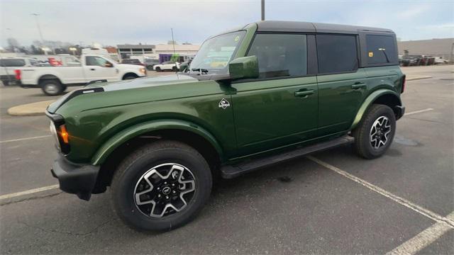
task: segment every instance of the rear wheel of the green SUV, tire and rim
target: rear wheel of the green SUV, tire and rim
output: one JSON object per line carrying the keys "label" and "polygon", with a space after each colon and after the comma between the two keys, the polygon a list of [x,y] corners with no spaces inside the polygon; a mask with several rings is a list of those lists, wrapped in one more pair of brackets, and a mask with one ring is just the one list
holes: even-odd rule
{"label": "rear wheel of the green SUV, tire and rim", "polygon": [[365,159],[381,157],[387,151],[396,132],[396,117],[389,106],[374,104],[360,125],[353,130],[355,149]]}

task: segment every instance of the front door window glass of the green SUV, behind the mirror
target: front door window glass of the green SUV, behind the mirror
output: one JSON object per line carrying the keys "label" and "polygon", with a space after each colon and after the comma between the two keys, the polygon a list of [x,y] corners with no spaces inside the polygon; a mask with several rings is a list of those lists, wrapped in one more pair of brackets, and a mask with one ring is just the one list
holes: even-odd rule
{"label": "front door window glass of the green SUV, behind the mirror", "polygon": [[257,56],[259,78],[307,74],[306,35],[257,34],[248,56]]}

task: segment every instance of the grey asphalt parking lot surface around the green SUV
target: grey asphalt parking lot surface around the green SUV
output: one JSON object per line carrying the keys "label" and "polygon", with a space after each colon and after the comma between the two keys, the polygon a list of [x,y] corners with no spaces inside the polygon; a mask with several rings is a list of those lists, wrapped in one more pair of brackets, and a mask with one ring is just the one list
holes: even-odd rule
{"label": "grey asphalt parking lot surface around the green SUV", "polygon": [[454,254],[453,66],[403,70],[432,78],[407,81],[384,157],[338,147],[221,181],[196,220],[159,234],[123,225],[109,190],[86,202],[55,188],[48,119],[6,113],[50,98],[3,86],[0,253]]}

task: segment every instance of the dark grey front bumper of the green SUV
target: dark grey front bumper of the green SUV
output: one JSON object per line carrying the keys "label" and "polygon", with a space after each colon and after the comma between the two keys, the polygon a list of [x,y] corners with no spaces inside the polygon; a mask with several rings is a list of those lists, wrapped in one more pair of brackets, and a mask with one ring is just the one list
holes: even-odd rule
{"label": "dark grey front bumper of the green SUV", "polygon": [[99,166],[74,164],[59,154],[50,171],[52,176],[58,179],[62,191],[76,194],[80,199],[89,200],[99,173]]}

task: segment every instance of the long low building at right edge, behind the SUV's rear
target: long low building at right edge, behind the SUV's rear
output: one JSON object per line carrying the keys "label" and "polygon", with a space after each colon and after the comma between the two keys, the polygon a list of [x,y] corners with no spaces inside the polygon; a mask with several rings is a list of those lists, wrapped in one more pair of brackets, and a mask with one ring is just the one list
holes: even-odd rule
{"label": "long low building at right edge, behind the SUV's rear", "polygon": [[454,38],[398,41],[399,55],[443,57],[453,62]]}

